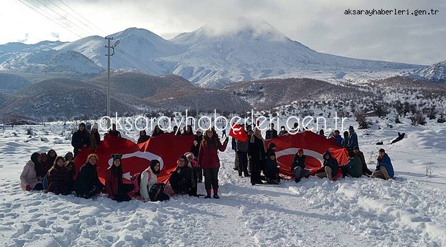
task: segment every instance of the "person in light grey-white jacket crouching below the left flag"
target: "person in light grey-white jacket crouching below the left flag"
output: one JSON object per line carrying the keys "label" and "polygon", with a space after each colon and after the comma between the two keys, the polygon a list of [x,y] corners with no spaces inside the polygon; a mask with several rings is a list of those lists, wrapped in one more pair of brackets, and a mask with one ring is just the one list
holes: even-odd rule
{"label": "person in light grey-white jacket crouching below the left flag", "polygon": [[139,193],[145,202],[152,201],[164,201],[169,200],[169,196],[164,193],[165,185],[163,183],[156,183],[158,174],[161,172],[160,163],[158,160],[150,161],[150,167],[145,169],[141,174],[135,174],[134,178],[132,178],[132,182],[139,183],[134,186],[139,187],[139,191],[135,191]]}

